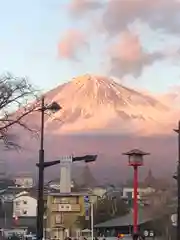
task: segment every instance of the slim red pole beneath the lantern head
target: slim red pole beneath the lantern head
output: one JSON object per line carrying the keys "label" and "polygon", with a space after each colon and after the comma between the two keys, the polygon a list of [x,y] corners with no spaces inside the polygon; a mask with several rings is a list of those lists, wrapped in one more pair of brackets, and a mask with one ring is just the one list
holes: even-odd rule
{"label": "slim red pole beneath the lantern head", "polygon": [[138,232],[138,167],[134,166],[134,226],[133,233]]}

